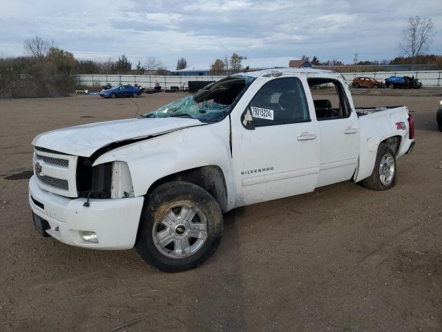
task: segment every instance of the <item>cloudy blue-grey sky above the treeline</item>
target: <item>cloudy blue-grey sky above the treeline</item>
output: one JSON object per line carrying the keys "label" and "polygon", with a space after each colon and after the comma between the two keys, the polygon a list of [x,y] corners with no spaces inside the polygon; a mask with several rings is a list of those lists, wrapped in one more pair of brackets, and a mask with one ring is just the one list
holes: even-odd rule
{"label": "cloudy blue-grey sky above the treeline", "polygon": [[54,39],[76,57],[132,62],[179,57],[209,64],[233,51],[249,58],[391,59],[398,55],[407,18],[430,17],[442,54],[441,0],[77,0],[2,3],[0,56],[23,55],[23,40]]}

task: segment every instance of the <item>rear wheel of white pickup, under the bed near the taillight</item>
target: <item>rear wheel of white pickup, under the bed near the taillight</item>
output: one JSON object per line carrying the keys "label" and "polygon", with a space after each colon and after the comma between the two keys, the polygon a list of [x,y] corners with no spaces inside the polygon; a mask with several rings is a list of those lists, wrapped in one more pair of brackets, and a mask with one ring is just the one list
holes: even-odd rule
{"label": "rear wheel of white pickup, under the bed near the taillight", "polygon": [[372,175],[363,179],[364,187],[372,190],[387,190],[396,185],[396,157],[386,143],[381,143],[376,154]]}

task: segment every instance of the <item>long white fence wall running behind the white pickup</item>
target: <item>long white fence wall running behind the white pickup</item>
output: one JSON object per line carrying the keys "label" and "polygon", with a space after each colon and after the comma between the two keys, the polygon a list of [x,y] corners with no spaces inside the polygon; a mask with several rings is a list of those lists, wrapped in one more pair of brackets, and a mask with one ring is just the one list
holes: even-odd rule
{"label": "long white fence wall running behind the white pickup", "polygon": [[[171,86],[188,87],[189,81],[218,81],[224,76],[152,76],[152,75],[76,75],[77,82],[82,86],[103,86],[107,83],[141,84],[146,88],[153,88],[160,83],[163,89]],[[390,76],[414,76],[423,86],[442,86],[442,71],[378,71],[372,73],[343,73],[345,80],[351,84],[354,77],[373,77],[376,80],[385,80]]]}

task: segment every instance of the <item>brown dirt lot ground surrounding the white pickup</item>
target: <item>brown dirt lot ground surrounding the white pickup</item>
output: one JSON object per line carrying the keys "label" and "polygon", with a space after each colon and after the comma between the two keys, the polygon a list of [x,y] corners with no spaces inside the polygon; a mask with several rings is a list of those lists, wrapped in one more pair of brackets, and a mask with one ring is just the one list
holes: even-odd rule
{"label": "brown dirt lot ground surrounding the white pickup", "polygon": [[[136,102],[148,111],[180,96]],[[42,238],[28,208],[32,138],[131,118],[131,100],[0,100],[0,331],[442,331],[438,102],[356,95],[356,106],[406,104],[416,118],[394,189],[346,182],[234,210],[204,266],[166,274],[135,250]]]}

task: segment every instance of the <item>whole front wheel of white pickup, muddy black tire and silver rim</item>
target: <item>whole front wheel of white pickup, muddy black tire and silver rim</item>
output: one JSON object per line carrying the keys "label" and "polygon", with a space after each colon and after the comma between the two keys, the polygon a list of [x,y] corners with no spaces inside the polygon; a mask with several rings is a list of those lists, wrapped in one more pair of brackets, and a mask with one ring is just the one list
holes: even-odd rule
{"label": "whole front wheel of white pickup, muddy black tire and silver rim", "polygon": [[135,246],[146,263],[166,272],[190,270],[218,248],[222,212],[202,187],[182,181],[164,183],[147,200]]}

